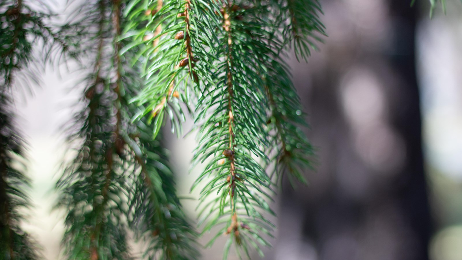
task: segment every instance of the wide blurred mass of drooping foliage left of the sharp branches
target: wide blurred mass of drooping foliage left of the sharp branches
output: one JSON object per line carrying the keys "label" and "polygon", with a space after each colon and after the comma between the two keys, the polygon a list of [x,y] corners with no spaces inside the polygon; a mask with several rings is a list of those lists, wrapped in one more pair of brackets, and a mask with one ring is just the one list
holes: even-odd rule
{"label": "wide blurred mass of drooping foliage left of the sharp branches", "polygon": [[84,109],[73,120],[69,141],[77,155],[57,187],[66,217],[69,259],[130,259],[127,229],[146,241],[144,258],[195,259],[196,233],[176,197],[173,174],[152,126],[131,118],[129,104],[141,91],[136,50],[124,50],[125,2],[84,1],[61,35],[69,50],[92,63],[84,79]]}

